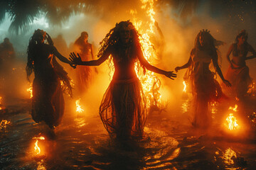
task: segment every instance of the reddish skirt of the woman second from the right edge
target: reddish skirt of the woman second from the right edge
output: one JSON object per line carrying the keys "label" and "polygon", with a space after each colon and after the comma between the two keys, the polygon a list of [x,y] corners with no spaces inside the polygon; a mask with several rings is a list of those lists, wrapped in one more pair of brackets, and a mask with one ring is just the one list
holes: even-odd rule
{"label": "reddish skirt of the woman second from the right edge", "polygon": [[212,123],[209,105],[225,96],[213,73],[192,76],[193,110],[192,125],[207,128]]}

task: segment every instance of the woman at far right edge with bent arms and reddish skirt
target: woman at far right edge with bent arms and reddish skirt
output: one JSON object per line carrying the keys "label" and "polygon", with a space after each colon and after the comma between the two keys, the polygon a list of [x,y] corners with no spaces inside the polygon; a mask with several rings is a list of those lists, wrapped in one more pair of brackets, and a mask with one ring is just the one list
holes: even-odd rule
{"label": "woman at far right edge with bent arms and reddish skirt", "polygon": [[[247,42],[248,35],[245,30],[242,30],[235,38],[235,43],[230,45],[227,53],[227,59],[230,67],[225,75],[226,79],[231,82],[232,88],[227,89],[228,94],[234,97],[242,97],[247,94],[252,79],[249,75],[249,68],[245,64],[245,60],[256,57],[256,52],[253,47]],[[252,52],[252,56],[247,57],[247,53]],[[233,57],[230,60],[230,54]]]}

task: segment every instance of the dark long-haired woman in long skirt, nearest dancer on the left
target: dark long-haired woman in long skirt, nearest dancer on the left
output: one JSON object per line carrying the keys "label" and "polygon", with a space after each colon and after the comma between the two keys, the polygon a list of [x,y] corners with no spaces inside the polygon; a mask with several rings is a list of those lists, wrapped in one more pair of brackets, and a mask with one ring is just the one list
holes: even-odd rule
{"label": "dark long-haired woman in long skirt, nearest dancer on the left", "polygon": [[[48,44],[44,43],[45,39]],[[70,78],[63,67],[56,62],[55,57],[61,62],[72,65],[72,62],[60,55],[53,46],[53,41],[48,33],[35,30],[28,44],[28,63],[26,66],[27,77],[32,72],[33,80],[32,118],[36,123],[44,121],[49,128],[59,125],[64,113],[63,90],[72,95]],[[62,86],[60,85],[62,81]]]}

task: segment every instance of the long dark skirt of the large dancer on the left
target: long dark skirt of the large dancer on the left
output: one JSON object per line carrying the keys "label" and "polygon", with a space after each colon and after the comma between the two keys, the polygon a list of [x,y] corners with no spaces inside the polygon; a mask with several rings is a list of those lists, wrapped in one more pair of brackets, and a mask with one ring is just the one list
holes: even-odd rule
{"label": "long dark skirt of the large dancer on the left", "polygon": [[58,79],[34,79],[32,118],[38,123],[44,121],[50,128],[60,124],[65,102]]}

